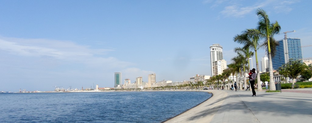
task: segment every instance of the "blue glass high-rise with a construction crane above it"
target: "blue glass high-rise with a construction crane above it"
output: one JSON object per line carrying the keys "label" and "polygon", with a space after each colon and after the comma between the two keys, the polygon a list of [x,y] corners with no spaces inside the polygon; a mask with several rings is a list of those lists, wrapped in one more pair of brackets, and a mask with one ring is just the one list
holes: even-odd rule
{"label": "blue glass high-rise with a construction crane above it", "polygon": [[278,41],[275,56],[272,57],[272,66],[274,70],[287,63],[289,60],[302,60],[301,40],[300,38],[287,38]]}

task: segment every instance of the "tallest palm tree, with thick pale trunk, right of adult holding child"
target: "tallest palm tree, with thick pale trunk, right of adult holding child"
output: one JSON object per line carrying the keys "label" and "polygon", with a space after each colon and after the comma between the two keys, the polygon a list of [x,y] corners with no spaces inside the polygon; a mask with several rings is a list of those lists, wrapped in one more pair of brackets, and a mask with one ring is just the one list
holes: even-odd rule
{"label": "tallest palm tree, with thick pale trunk, right of adult holding child", "polygon": [[[257,29],[265,36],[267,40],[267,49],[269,56],[269,71],[270,71],[270,91],[275,91],[275,83],[273,80],[273,66],[272,66],[272,55],[271,55],[271,46],[270,39],[274,39],[274,34],[278,34],[280,32],[280,25],[277,21],[275,23],[270,23],[269,16],[266,14],[266,11],[258,8],[256,10],[256,14],[259,17],[258,27]],[[259,88],[258,88],[259,89]]]}

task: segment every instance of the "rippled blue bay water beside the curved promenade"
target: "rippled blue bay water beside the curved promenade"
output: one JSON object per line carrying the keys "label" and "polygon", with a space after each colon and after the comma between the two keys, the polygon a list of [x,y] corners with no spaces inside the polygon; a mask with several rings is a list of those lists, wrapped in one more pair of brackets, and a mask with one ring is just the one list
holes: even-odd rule
{"label": "rippled blue bay water beside the curved promenade", "polygon": [[159,123],[210,97],[194,91],[0,93],[0,122]]}

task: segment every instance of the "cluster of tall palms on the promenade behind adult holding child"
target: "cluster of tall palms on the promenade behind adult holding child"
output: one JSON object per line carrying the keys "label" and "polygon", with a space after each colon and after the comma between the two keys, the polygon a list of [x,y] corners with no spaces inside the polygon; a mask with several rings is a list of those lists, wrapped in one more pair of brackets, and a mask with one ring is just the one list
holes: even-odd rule
{"label": "cluster of tall palms on the promenade behind adult holding child", "polygon": [[[234,49],[234,51],[237,53],[237,56],[232,58],[233,63],[232,65],[229,64],[228,67],[231,68],[232,71],[240,74],[241,69],[243,69],[244,85],[246,87],[245,75],[247,71],[245,70],[245,65],[248,62],[248,67],[250,67],[248,59],[255,54],[257,84],[261,85],[257,51],[264,47],[266,48],[266,52],[269,56],[270,90],[276,90],[275,83],[273,81],[272,57],[275,52],[275,47],[278,43],[275,41],[273,36],[274,34],[278,34],[280,32],[280,25],[277,21],[271,23],[266,12],[260,8],[256,10],[256,14],[259,17],[257,27],[253,29],[246,29],[241,34],[238,34],[233,38],[234,42],[242,44],[243,47],[236,47]],[[253,50],[254,52],[251,52],[250,50]],[[258,91],[262,91],[262,88],[258,87]]]}

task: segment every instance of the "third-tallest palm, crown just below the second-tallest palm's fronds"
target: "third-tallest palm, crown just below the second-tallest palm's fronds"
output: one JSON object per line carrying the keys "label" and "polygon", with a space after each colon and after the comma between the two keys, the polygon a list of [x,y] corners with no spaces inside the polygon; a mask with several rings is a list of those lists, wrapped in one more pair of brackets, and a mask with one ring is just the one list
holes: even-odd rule
{"label": "third-tallest palm, crown just below the second-tallest palm's fronds", "polygon": [[[236,53],[241,53],[243,54],[244,59],[242,60],[244,66],[243,66],[243,71],[244,71],[244,87],[247,87],[247,82],[246,82],[246,70],[245,70],[245,65],[246,65],[246,60],[248,60],[250,57],[252,57],[254,55],[254,53],[252,51],[249,51],[249,47],[235,47],[234,48],[234,52]],[[249,71],[249,60],[248,60],[248,71]],[[244,88],[244,89],[245,89]]]}

